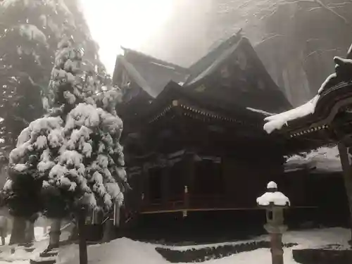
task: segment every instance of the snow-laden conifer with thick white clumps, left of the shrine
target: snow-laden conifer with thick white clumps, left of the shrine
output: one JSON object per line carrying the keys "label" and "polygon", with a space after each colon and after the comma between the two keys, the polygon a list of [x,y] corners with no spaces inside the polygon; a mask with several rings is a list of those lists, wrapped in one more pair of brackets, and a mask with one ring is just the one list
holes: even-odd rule
{"label": "snow-laden conifer with thick white clumps, left of the shrine", "polygon": [[38,204],[49,216],[82,207],[110,210],[114,201],[122,203],[128,187],[119,142],[122,120],[115,111],[119,94],[84,73],[82,53],[72,39],[59,44],[49,84],[54,107],[20,133],[10,153],[8,199],[22,197],[16,184],[41,182],[45,202]]}

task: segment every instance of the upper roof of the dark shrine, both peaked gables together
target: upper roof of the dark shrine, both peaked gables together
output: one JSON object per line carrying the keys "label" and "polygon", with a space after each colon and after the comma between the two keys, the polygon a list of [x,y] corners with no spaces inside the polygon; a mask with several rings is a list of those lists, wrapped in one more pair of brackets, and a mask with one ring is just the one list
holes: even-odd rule
{"label": "upper roof of the dark shrine, both peaked gables together", "polygon": [[[117,77],[121,68],[125,68],[134,82],[137,82],[139,87],[153,98],[152,101],[165,97],[162,95],[168,93],[165,87],[172,81],[178,84],[182,82],[180,85],[183,93],[188,93],[187,96],[192,96],[199,103],[206,102],[207,106],[216,102],[222,108],[231,111],[240,109],[248,115],[253,112],[249,109],[256,109],[262,113],[263,111],[278,113],[291,108],[282,91],[265,70],[249,40],[241,37],[241,34],[236,34],[222,42],[189,69],[161,61],[139,51],[124,50],[125,55],[118,56],[113,79]],[[244,54],[248,68],[247,66],[239,68],[236,65],[238,54]],[[222,75],[220,75],[224,65],[230,67],[231,80],[230,86],[227,87],[222,86]],[[182,78],[184,78],[183,81]],[[264,89],[260,88],[259,82],[263,84]],[[206,89],[201,91],[199,88],[203,85]],[[241,88],[246,91],[239,91]]]}

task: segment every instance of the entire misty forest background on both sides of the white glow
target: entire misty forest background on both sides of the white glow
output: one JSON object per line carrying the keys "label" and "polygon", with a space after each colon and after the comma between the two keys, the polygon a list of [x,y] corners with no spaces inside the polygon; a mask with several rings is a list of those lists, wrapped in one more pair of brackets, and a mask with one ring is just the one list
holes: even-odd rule
{"label": "entire misty forest background on both sides of the white glow", "polygon": [[[351,13],[352,0],[177,0],[168,22],[140,51],[188,67],[242,28],[272,78],[298,106],[334,71],[332,58],[346,56]],[[138,18],[131,13],[130,19]],[[47,84],[63,34],[72,34],[87,63],[106,76],[78,0],[0,1],[1,186],[18,134],[45,113]]]}

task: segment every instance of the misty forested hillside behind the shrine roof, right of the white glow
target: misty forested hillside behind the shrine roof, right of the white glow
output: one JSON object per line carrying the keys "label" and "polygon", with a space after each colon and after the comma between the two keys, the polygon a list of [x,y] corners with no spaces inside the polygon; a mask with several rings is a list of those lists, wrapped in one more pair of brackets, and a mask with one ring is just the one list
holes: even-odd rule
{"label": "misty forested hillside behind the shrine roof, right of the white glow", "polygon": [[[352,42],[351,0],[177,1],[142,51],[189,66],[240,28],[293,106],[311,99]],[[162,49],[160,48],[162,47]]]}

